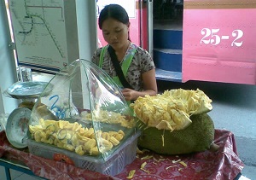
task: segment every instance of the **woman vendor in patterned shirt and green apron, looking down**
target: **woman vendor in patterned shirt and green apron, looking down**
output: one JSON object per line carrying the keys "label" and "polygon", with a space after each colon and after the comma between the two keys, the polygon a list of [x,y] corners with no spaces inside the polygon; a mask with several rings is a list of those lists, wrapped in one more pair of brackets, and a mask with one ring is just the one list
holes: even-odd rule
{"label": "woman vendor in patterned shirt and green apron, looking down", "polygon": [[[155,96],[154,61],[145,49],[131,43],[129,16],[125,9],[118,4],[107,5],[100,13],[99,27],[108,45],[96,49],[92,61],[124,88],[122,93],[126,101],[136,100],[139,96]],[[116,71],[114,64],[121,70]]]}

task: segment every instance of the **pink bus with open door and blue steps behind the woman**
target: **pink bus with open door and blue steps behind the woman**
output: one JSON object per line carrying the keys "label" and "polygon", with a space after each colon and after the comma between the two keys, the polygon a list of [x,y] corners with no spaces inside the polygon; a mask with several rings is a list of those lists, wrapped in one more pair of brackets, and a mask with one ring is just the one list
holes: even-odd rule
{"label": "pink bus with open door and blue steps behind the woman", "polygon": [[131,40],[154,56],[157,79],[256,84],[255,0],[129,3]]}

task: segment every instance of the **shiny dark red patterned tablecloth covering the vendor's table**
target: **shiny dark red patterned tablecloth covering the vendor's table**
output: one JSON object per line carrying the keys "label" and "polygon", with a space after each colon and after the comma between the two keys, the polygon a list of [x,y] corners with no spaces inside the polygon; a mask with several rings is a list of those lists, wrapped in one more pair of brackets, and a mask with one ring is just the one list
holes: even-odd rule
{"label": "shiny dark red patterned tablecloth covering the vendor's table", "polygon": [[[137,154],[136,160],[114,177],[98,172],[80,169],[55,160],[47,160],[27,153],[27,149],[13,148],[5,135],[0,133],[0,157],[19,160],[38,177],[47,179],[126,179],[131,170],[136,170],[132,179],[234,179],[244,164],[238,157],[234,134],[230,131],[215,130],[214,142],[217,152],[205,151],[195,154],[160,155],[153,152]],[[146,162],[143,169],[141,165]]]}

